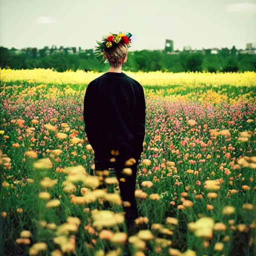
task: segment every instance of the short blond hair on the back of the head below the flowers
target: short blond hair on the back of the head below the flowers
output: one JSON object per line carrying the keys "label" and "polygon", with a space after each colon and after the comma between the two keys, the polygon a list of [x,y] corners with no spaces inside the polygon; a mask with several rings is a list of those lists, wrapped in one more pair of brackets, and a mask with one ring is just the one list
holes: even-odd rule
{"label": "short blond hair on the back of the head below the flowers", "polygon": [[117,67],[123,64],[124,58],[128,53],[128,46],[125,43],[119,43],[104,50],[104,55],[109,61],[110,65]]}

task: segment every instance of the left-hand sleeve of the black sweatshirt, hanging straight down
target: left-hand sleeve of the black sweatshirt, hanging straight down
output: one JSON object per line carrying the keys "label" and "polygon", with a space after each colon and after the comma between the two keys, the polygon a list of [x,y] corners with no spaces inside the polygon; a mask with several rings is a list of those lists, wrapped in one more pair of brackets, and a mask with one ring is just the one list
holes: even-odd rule
{"label": "left-hand sleeve of the black sweatshirt, hanging straight down", "polygon": [[93,150],[97,148],[97,134],[96,129],[96,104],[93,86],[89,83],[85,90],[83,100],[83,121],[85,124],[84,131],[86,132],[88,141],[92,146]]}

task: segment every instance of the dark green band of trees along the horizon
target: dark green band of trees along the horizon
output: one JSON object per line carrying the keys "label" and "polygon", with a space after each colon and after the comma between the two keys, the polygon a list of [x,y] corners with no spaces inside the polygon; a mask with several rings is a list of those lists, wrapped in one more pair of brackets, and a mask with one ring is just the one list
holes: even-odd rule
{"label": "dark green band of trees along the horizon", "polygon": [[[67,69],[76,71],[105,72],[109,64],[104,64],[87,52],[68,51],[55,52],[52,50],[49,55],[45,49],[30,48],[29,50],[17,53],[13,49],[0,47],[0,67],[12,69],[33,69],[53,68],[63,72]],[[236,72],[256,71],[256,55],[239,53],[232,48],[222,48],[218,53],[211,54],[210,49],[201,51],[186,52],[178,54],[166,54],[163,50],[139,50],[128,53],[127,62],[123,64],[124,71],[208,71],[208,72]]]}

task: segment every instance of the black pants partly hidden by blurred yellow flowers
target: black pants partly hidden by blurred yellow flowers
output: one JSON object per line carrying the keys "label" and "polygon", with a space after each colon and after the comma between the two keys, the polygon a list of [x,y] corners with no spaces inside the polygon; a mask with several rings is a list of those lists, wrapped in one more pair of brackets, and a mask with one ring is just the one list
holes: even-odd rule
{"label": "black pants partly hidden by blurred yellow flowers", "polygon": [[[130,206],[123,206],[125,212],[125,218],[128,222],[133,221],[138,217],[137,203],[135,198],[135,185],[137,176],[137,165],[138,159],[133,165],[125,165],[125,160],[117,160],[116,162],[104,162],[100,161],[96,157],[95,159],[95,171],[113,168],[115,171],[116,178],[119,182],[119,189],[122,201],[128,201]],[[123,168],[131,168],[132,174],[126,175],[122,173]],[[125,179],[125,182],[120,181],[121,178]]]}

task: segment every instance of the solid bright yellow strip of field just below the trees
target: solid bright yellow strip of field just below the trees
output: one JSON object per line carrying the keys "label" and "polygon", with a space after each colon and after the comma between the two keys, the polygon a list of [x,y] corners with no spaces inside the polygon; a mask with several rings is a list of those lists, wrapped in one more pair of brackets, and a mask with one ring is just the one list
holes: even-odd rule
{"label": "solid bright yellow strip of field just below the trees", "polygon": [[[253,86],[256,84],[256,73],[246,71],[244,73],[207,73],[207,72],[129,72],[124,71],[127,75],[137,80],[142,85],[215,85],[232,84],[233,86]],[[29,82],[43,82],[54,84],[87,84],[92,79],[103,73],[93,71],[84,72],[83,70],[67,70],[57,72],[52,69],[0,69],[2,81],[26,80]]]}

